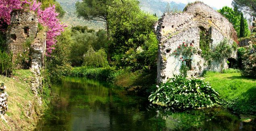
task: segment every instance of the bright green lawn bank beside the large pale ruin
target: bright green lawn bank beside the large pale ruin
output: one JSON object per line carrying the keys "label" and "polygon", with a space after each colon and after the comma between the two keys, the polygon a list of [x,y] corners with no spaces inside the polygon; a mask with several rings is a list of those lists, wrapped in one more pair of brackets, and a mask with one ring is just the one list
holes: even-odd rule
{"label": "bright green lawn bank beside the large pale ruin", "polygon": [[237,73],[207,72],[205,80],[219,92],[223,106],[239,114],[256,114],[256,79]]}

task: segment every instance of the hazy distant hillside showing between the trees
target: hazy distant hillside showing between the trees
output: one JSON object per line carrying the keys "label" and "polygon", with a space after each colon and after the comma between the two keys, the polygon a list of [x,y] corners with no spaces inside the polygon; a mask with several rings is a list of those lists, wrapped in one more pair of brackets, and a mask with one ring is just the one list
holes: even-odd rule
{"label": "hazy distant hillside showing between the trees", "polygon": [[[95,20],[84,20],[83,18],[77,18],[77,15],[75,13],[75,3],[77,1],[82,0],[57,0],[62,8],[66,11],[65,16],[62,18],[62,22],[64,22],[66,25],[69,26],[75,26],[75,25],[82,25],[87,26],[92,29],[104,29],[105,24],[100,21]],[[161,0],[139,0],[140,2],[140,8],[144,10],[145,12],[148,12],[150,14],[156,13],[158,17],[162,16],[166,6],[167,2],[163,2]],[[175,3],[170,2],[169,3],[172,9],[177,8],[178,10],[183,10],[185,7],[185,4],[181,3]]]}

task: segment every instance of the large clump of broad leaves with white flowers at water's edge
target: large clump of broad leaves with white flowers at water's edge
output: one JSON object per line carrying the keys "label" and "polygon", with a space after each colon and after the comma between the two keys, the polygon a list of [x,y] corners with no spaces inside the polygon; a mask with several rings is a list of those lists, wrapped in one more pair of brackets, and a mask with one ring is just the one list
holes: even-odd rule
{"label": "large clump of broad leaves with white flowers at water's edge", "polygon": [[149,96],[150,102],[178,109],[210,107],[219,103],[219,93],[208,82],[174,76],[157,86]]}

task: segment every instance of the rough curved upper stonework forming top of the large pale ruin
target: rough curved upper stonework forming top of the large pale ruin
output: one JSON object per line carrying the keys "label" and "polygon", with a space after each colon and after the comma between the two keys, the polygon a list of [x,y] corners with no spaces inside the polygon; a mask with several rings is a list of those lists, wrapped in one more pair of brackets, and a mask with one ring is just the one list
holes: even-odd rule
{"label": "rough curved upper stonework forming top of the large pale ruin", "polygon": [[[172,28],[168,27],[170,25]],[[198,1],[186,6],[186,10],[184,12],[170,14],[165,13],[159,19],[158,27],[155,29],[156,34],[162,32],[160,36],[163,39],[169,39],[172,36],[177,35],[186,29],[189,29],[191,26],[202,26],[205,29],[214,27],[218,29],[223,35],[225,35],[225,37],[233,39],[237,42],[237,33],[235,32],[235,29],[229,20],[227,20],[227,18],[225,18],[210,6]]]}

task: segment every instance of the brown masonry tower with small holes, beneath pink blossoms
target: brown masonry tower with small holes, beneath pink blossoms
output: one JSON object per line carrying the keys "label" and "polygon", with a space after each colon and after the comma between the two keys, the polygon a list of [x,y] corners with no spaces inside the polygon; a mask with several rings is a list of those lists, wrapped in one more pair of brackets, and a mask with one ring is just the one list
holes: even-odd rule
{"label": "brown masonry tower with small holes, beneath pink blossoms", "polygon": [[37,35],[38,19],[35,14],[24,10],[11,12],[11,23],[6,33],[8,52],[12,52],[13,60],[23,52],[23,45],[27,39],[34,39]]}

